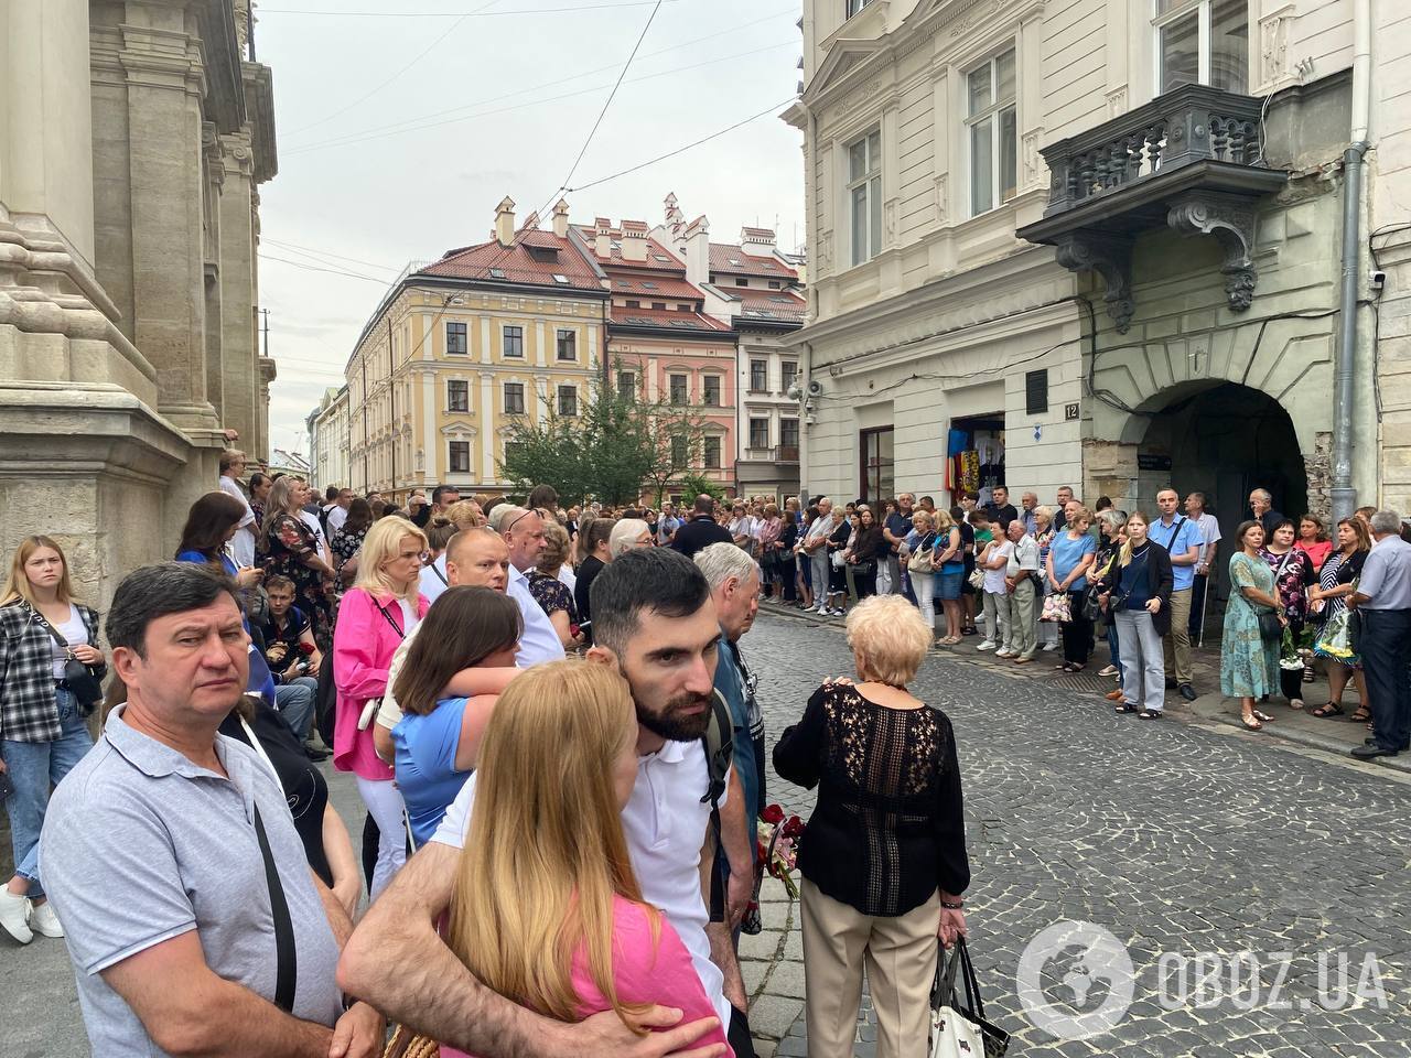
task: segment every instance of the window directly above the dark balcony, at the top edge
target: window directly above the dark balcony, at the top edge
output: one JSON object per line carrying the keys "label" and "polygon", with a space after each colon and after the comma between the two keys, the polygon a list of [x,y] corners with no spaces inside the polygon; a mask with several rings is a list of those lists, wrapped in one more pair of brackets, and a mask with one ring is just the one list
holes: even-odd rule
{"label": "window directly above the dark balcony, at the top edge", "polygon": [[1249,0],[1156,0],[1156,90],[1249,90]]}

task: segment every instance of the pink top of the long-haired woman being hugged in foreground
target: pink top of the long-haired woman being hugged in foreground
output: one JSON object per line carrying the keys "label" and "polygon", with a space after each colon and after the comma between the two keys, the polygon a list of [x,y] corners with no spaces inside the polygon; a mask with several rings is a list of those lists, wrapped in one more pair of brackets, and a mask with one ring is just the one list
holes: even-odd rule
{"label": "pink top of the long-haired woman being hugged in foreground", "polygon": [[[715,1007],[706,997],[706,989],[691,966],[690,952],[682,938],[658,916],[660,932],[652,942],[652,923],[646,908],[622,897],[612,899],[612,982],[622,1003],[660,1003],[682,1011],[682,1021],[715,1017]],[[573,990],[583,1000],[579,1016],[611,1010],[612,1004],[598,992],[588,973],[587,956],[580,949],[573,956]],[[714,1028],[693,1047],[725,1044],[725,1058],[734,1058],[725,1038],[725,1028]],[[464,1051],[442,1047],[442,1058],[470,1058]]]}

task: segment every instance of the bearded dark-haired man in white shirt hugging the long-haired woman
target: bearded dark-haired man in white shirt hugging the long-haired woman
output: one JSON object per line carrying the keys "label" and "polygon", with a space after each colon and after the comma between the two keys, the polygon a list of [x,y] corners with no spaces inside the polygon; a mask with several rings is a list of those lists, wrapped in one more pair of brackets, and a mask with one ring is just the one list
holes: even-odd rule
{"label": "bearded dark-haired man in white shirt hugging the long-haired woman", "polygon": [[[662,908],[691,955],[722,1024],[734,1021],[725,999],[725,972],[738,982],[728,956],[722,971],[710,961],[706,897],[700,862],[707,846],[710,770],[701,735],[710,722],[720,622],[706,578],[684,556],[667,547],[628,552],[598,574],[593,585],[595,645],[590,660],[617,664],[636,704],[638,779],[622,811],[622,828],[643,899]],[[727,774],[727,800],[742,797]],[[711,1019],[679,1026],[642,1040],[614,1011],[579,1024],[531,1014],[490,992],[467,972],[436,932],[450,904],[460,848],[476,796],[474,776],[461,789],[435,838],[423,846],[368,910],[344,949],[339,982],[396,1021],[471,1054],[535,1054],[546,1058],[659,1058],[684,1052]],[[748,849],[727,849],[746,865]],[[734,875],[734,872],[732,872]],[[735,904],[748,892],[731,892]],[[725,925],[721,923],[720,925]],[[729,951],[729,945],[724,945]],[[737,983],[738,986],[738,983]],[[741,1017],[741,1021],[744,1019]],[[670,1026],[662,1009],[646,1024]],[[752,1054],[748,1035],[731,1044],[741,1058]]]}

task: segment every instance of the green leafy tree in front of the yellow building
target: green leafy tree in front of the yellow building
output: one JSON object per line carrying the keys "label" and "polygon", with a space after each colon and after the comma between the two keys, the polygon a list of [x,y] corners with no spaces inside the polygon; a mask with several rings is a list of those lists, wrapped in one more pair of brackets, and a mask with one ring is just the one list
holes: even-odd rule
{"label": "green leafy tree in front of the yellow building", "polygon": [[619,391],[594,375],[577,415],[560,415],[556,396],[542,401],[538,420],[509,419],[501,474],[516,490],[553,485],[564,504],[597,499],[656,504],[701,460],[703,420],[690,409],[648,401],[641,387]]}

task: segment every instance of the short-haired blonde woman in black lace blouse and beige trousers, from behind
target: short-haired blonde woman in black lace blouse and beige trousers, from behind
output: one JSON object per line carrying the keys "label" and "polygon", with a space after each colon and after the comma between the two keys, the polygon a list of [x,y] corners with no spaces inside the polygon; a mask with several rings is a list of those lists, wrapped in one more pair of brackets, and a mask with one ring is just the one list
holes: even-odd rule
{"label": "short-haired blonde woman in black lace blouse and beige trousers, from behind", "polygon": [[965,934],[969,884],[951,722],[907,684],[933,629],[900,595],[847,619],[858,683],[825,681],[775,746],[775,770],[818,803],[799,845],[809,1054],[849,1058],[862,968],[878,1054],[924,1058],[937,938]]}

